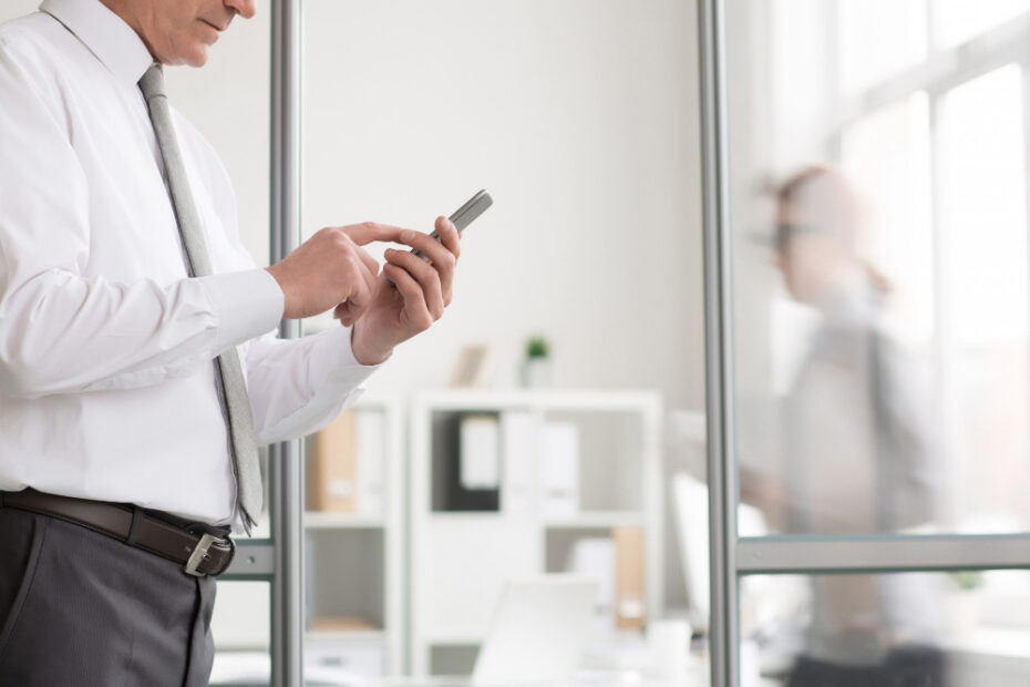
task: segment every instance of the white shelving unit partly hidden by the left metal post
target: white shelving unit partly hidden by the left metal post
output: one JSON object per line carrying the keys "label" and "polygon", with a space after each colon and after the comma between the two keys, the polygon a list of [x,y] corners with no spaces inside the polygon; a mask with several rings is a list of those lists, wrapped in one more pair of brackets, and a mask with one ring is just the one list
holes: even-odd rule
{"label": "white shelving unit partly hidden by the left metal post", "polygon": [[[359,470],[381,461],[372,483],[356,478],[356,489],[375,491],[377,506],[371,512],[305,511],[305,663],[341,675],[398,675],[405,660],[402,406],[395,396],[365,393],[348,412],[378,414],[372,424],[378,435],[354,447],[358,453],[380,454],[356,457]],[[313,469],[311,441],[308,471]],[[350,621],[344,624],[344,618]]]}

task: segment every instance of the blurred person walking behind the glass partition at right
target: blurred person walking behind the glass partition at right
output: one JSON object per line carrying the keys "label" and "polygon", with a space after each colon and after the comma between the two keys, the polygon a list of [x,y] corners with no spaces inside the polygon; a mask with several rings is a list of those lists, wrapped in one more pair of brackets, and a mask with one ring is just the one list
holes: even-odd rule
{"label": "blurred person walking behind the glass partition at right", "polygon": [[[759,501],[787,534],[861,536],[935,521],[926,406],[883,327],[889,284],[858,250],[863,229],[851,185],[830,167],[805,167],[776,193],[784,285],[818,315],[784,403],[787,481],[771,491],[786,499]],[[920,573],[813,575],[787,685],[947,684],[937,582]]]}

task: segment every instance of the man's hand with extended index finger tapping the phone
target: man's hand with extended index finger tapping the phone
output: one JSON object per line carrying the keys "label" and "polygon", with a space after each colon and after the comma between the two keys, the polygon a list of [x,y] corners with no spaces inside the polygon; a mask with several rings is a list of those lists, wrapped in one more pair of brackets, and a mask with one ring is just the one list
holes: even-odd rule
{"label": "man's hand with extended index finger tapping the phone", "polygon": [[404,232],[414,234],[374,222],[318,232],[267,268],[286,296],[282,317],[299,319],[337,308],[334,317],[343,325],[354,324],[371,304],[379,274],[379,263],[361,246],[399,242]]}

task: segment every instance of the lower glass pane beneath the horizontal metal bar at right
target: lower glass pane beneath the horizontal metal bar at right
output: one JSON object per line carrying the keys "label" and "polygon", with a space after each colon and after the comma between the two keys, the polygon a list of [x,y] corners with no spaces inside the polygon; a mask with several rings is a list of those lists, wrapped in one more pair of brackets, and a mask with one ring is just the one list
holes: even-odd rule
{"label": "lower glass pane beneath the horizontal metal bar at right", "polygon": [[740,592],[742,685],[1030,679],[1026,571],[754,576]]}

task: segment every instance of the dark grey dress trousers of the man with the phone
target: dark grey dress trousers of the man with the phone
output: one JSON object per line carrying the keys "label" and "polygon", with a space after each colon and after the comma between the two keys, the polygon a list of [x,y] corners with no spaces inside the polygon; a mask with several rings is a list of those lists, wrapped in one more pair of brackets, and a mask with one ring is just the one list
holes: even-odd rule
{"label": "dark grey dress trousers of the man with the phone", "polygon": [[200,687],[215,581],[0,506],[0,687]]}

